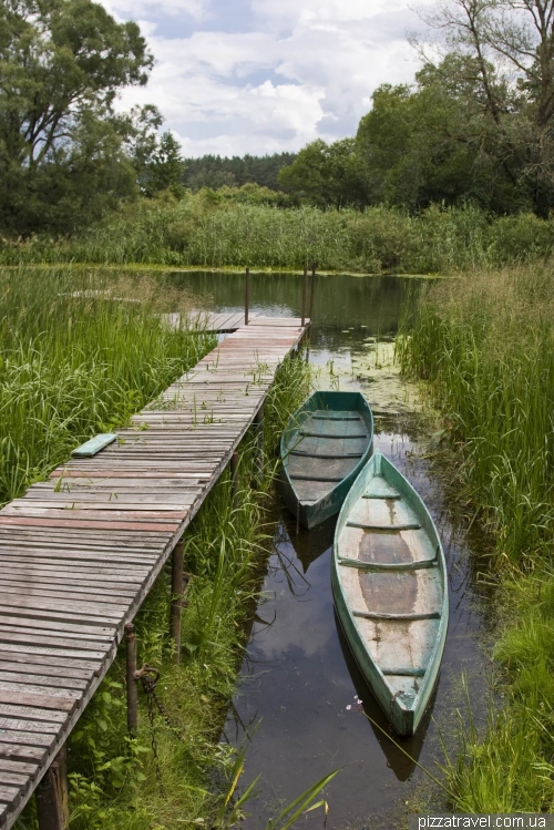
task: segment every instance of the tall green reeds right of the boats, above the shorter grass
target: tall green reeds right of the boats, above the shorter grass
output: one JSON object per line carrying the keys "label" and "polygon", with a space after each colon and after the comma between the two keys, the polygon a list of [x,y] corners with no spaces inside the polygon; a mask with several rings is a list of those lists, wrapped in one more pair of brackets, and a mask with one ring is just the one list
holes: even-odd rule
{"label": "tall green reeds right of the boats, above the shorter grass", "polygon": [[399,345],[403,368],[431,381],[468,495],[511,562],[553,539],[553,288],[552,262],[439,285]]}

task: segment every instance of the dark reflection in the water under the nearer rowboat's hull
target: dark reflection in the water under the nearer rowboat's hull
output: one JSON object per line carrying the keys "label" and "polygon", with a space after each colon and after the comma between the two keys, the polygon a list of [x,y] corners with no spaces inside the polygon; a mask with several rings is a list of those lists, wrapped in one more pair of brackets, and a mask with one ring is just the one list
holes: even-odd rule
{"label": "dark reflection in the water under the nearer rowboat's hull", "polygon": [[[394,735],[396,744],[401,746],[402,749],[408,752],[410,758],[413,758],[413,760],[410,760],[410,758],[407,758],[407,756],[400,751],[398,746],[396,746],[392,740],[387,737],[388,732],[390,732],[391,730],[390,723],[384,716],[383,710],[379,706],[368,684],[363,679],[363,675],[361,674],[358,664],[352,656],[337,614],[335,615],[335,622],[337,624],[338,639],[342,649],[342,655],[345,657],[348,673],[352,678],[353,687],[356,689],[358,698],[362,701],[363,711],[369,716],[369,718],[371,718],[371,720],[369,720],[369,724],[377,738],[377,742],[381,747],[383,755],[387,758],[387,766],[392,769],[399,781],[407,781],[416,770],[416,761],[419,760],[421,750],[423,748],[427,730],[431,720],[432,701],[431,705],[427,707],[425,714],[423,715],[416,735],[408,735],[402,737]],[[382,731],[381,729],[379,729],[379,727],[381,727]]]}

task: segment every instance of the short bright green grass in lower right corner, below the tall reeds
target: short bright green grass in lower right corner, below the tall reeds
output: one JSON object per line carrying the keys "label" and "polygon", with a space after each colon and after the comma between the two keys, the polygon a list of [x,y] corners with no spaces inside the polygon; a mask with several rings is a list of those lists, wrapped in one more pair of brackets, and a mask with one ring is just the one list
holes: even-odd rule
{"label": "short bright green grass in lower right corner, below the tall reeds", "polygon": [[444,767],[461,812],[552,812],[554,809],[554,575],[552,570],[506,581],[495,658],[505,669],[479,728],[468,707],[461,747]]}

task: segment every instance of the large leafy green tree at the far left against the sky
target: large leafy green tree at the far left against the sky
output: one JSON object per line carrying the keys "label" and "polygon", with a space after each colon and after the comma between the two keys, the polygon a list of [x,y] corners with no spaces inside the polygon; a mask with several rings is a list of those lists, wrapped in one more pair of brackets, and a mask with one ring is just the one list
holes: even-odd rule
{"label": "large leafy green tree at the far left against the sky", "polygon": [[0,227],[73,229],[132,196],[112,104],[152,65],[136,23],[92,0],[8,0],[0,32]]}

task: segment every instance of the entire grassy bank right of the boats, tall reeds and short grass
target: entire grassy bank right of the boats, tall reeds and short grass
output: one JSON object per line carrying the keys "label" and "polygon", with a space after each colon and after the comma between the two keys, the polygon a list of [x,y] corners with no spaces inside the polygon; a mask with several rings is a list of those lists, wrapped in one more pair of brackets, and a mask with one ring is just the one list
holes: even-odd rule
{"label": "entire grassy bank right of the boats, tall reeds and short grass", "polygon": [[403,369],[443,416],[462,498],[494,544],[502,708],[447,766],[466,812],[554,810],[554,264],[480,271],[423,297]]}

